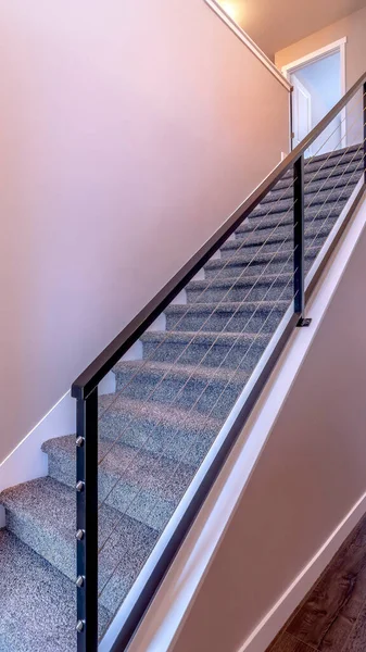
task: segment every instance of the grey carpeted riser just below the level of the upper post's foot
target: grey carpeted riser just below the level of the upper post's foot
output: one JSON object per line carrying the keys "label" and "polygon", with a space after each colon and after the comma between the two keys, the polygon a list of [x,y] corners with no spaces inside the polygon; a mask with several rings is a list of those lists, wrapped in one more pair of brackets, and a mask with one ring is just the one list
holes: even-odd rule
{"label": "grey carpeted riser just below the level of the upper post's foot", "polygon": [[204,364],[210,367],[235,367],[239,362],[243,361],[243,368],[250,373],[253,371],[258,358],[265,350],[265,344],[253,340],[249,344],[230,344],[219,346],[217,343],[212,344],[182,344],[182,343],[163,343],[160,344],[143,343],[143,358],[154,360],[156,362],[172,362],[174,363],[179,359],[180,364]]}

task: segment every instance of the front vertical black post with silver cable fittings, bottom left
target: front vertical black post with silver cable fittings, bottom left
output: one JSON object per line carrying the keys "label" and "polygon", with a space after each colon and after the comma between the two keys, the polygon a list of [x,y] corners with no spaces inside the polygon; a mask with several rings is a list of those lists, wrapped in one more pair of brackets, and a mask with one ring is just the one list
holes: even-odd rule
{"label": "front vertical black post with silver cable fittings, bottom left", "polygon": [[98,387],[76,408],[77,652],[98,650]]}

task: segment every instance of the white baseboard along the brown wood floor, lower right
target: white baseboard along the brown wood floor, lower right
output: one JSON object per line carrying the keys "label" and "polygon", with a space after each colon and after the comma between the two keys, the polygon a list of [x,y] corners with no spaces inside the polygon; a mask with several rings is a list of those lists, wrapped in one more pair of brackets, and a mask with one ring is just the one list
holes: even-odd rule
{"label": "white baseboard along the brown wood floor, lower right", "polygon": [[282,593],[280,599],[265,615],[257,627],[239,648],[238,652],[264,652],[281,630],[296,606],[320,577],[343,541],[366,512],[366,493],[353,505],[352,510],[319,548],[313,559]]}

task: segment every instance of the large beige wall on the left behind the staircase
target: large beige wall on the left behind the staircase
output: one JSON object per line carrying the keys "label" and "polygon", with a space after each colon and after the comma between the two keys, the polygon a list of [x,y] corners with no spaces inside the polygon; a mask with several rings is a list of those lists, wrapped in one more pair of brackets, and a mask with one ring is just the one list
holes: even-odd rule
{"label": "large beige wall on the left behind the staircase", "polygon": [[0,460],[288,147],[197,0],[0,0]]}

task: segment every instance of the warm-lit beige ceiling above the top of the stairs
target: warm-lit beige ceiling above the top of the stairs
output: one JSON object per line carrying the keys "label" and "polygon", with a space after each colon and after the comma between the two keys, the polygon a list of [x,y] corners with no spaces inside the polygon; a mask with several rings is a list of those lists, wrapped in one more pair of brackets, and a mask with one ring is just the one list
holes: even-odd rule
{"label": "warm-lit beige ceiling above the top of the stairs", "polygon": [[366,0],[218,0],[249,36],[275,52],[366,7]]}

